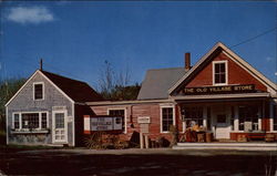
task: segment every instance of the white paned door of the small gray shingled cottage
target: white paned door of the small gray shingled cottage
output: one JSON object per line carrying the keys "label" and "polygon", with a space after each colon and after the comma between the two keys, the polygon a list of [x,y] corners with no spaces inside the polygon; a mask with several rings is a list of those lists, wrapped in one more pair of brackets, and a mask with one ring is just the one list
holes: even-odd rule
{"label": "white paned door of the small gray shingled cottage", "polygon": [[54,143],[66,143],[68,131],[66,131],[66,111],[53,111],[53,142]]}

